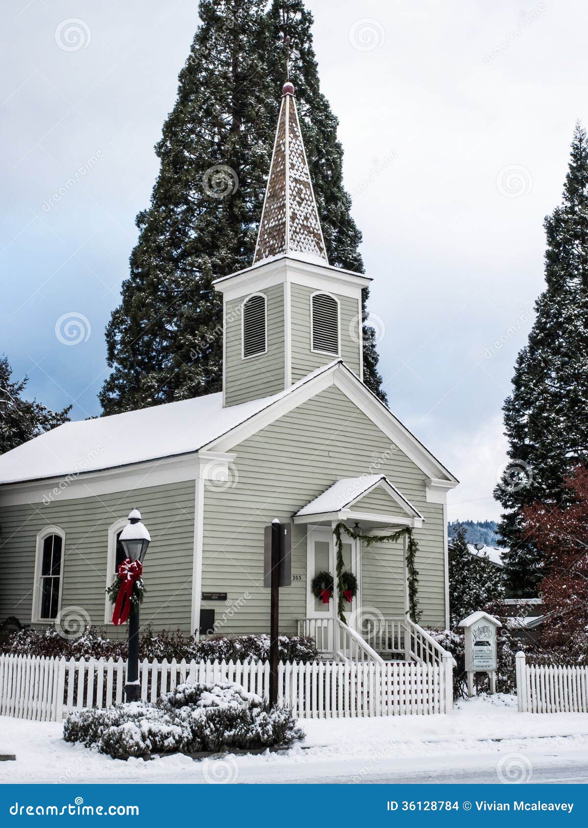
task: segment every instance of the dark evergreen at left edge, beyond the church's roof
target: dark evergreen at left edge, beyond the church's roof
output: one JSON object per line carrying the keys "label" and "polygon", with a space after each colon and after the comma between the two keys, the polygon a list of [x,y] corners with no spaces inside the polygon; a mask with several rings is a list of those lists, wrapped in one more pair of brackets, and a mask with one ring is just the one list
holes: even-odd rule
{"label": "dark evergreen at left edge, beyond the church's roof", "polygon": [[23,400],[27,383],[28,377],[13,380],[7,357],[0,358],[0,455],[70,419],[71,406],[52,412],[41,402]]}

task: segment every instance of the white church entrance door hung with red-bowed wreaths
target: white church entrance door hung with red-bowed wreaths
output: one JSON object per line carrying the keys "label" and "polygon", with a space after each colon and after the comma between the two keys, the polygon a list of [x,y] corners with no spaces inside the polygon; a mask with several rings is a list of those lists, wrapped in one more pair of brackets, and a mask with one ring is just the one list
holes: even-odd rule
{"label": "white church entrance door hung with red-bowed wreaths", "polygon": [[[360,580],[360,563],[359,563],[359,543],[352,541],[350,537],[343,536],[343,560],[345,561],[345,569],[353,572],[358,581],[357,595],[351,604],[345,602],[345,617],[349,619],[349,615],[353,610],[358,609],[359,599],[361,595],[361,580]],[[335,537],[329,527],[314,527],[308,529],[307,535],[307,561],[306,561],[306,616],[310,619],[325,619],[324,624],[317,624],[317,636],[320,635],[320,630],[324,629],[325,634],[327,630],[332,636],[333,624],[329,623],[328,619],[335,619],[337,616],[337,550]],[[324,604],[321,598],[315,598],[312,595],[311,583],[315,575],[319,572],[330,572],[335,583],[335,594],[331,595],[328,604]],[[328,646],[321,646],[317,638],[317,647],[319,649],[332,650],[332,638],[330,638]]]}

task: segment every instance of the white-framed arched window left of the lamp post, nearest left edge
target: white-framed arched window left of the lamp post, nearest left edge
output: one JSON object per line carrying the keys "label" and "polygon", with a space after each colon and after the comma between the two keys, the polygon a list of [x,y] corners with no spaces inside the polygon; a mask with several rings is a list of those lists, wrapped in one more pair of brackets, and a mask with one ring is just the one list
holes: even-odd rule
{"label": "white-framed arched window left of the lamp post, nearest left edge", "polygon": [[54,621],[60,611],[65,532],[46,527],[36,536],[35,585],[31,620]]}

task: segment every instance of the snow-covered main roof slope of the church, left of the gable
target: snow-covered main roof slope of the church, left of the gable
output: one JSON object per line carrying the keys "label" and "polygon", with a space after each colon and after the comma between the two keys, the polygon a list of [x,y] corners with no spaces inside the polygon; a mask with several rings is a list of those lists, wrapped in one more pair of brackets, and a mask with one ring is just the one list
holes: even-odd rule
{"label": "snow-covered main roof slope of the church, left of the gable", "polygon": [[224,408],[221,393],[206,394],[94,420],[66,422],[0,455],[0,485],[190,454],[338,363],[340,360],[334,360],[317,368],[286,391],[237,406]]}

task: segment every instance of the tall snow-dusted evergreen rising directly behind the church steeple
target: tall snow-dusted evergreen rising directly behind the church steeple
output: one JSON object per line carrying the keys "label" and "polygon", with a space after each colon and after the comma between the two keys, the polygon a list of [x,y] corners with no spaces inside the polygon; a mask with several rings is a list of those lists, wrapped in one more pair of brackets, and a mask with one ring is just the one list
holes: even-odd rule
{"label": "tall snow-dusted evergreen rising directly behind the church steeple", "polygon": [[[105,414],[221,387],[222,303],[212,282],[253,261],[284,80],[284,21],[297,45],[292,75],[330,262],[363,270],[337,122],[318,86],[312,17],[298,0],[266,5],[200,2],[201,25],[156,147],[151,205],[137,215],[130,275],[106,330]],[[374,392],[377,362],[367,330],[364,378]]]}

